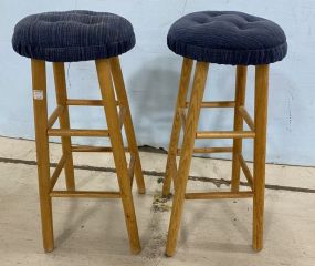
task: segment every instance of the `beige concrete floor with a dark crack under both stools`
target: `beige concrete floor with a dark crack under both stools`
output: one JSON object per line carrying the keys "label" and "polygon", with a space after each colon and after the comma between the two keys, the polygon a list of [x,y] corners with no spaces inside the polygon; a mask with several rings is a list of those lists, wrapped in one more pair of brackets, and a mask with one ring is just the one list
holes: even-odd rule
{"label": "beige concrete floor with a dark crack under both stools", "polygon": [[[51,145],[56,162],[60,145]],[[164,256],[171,202],[158,203],[166,155],[141,152],[134,198],[143,252],[130,255],[119,200],[54,200],[55,250],[41,243],[34,142],[0,137],[0,265],[315,265],[315,168],[266,167],[265,247],[251,248],[250,200],[188,201],[177,254]],[[75,155],[81,190],[117,187],[109,154]],[[193,158],[189,191],[227,190],[231,162]],[[61,178],[57,186],[63,187]],[[246,186],[242,186],[246,190]]]}

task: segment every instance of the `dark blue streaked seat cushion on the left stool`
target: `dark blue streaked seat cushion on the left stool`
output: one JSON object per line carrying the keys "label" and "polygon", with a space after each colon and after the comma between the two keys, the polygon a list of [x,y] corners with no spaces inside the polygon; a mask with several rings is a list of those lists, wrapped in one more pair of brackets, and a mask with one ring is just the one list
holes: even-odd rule
{"label": "dark blue streaked seat cushion on the left stool", "polygon": [[106,59],[135,45],[130,22],[117,14],[74,10],[22,19],[12,45],[21,55],[52,62]]}

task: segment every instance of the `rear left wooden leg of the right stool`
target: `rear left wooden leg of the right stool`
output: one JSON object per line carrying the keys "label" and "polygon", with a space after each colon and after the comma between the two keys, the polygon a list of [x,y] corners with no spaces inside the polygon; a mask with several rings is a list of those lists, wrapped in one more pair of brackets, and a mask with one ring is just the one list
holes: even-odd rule
{"label": "rear left wooden leg of the right stool", "polygon": [[182,61],[181,68],[181,76],[179,82],[179,91],[177,95],[177,103],[175,108],[174,114],[174,122],[170,135],[170,142],[168,147],[168,156],[167,156],[167,164],[166,164],[166,174],[162,185],[162,195],[167,196],[170,192],[170,183],[171,178],[176,176],[176,155],[177,155],[177,145],[180,135],[180,126],[181,126],[181,119],[179,114],[179,109],[185,108],[187,92],[189,88],[189,81],[191,76],[191,69],[192,69],[193,61],[191,59],[185,58]]}

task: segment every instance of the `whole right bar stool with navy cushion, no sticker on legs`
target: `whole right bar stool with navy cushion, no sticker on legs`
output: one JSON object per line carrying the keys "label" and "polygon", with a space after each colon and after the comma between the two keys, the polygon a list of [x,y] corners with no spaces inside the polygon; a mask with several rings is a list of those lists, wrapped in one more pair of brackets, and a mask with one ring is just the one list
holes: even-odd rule
{"label": "whole right bar stool with navy cushion, no sticker on legs", "polygon": [[[269,64],[286,55],[287,44],[283,30],[275,23],[241,12],[196,12],[176,21],[168,33],[170,50],[183,57],[175,119],[170,136],[162,193],[170,192],[174,178],[175,195],[167,238],[166,255],[175,254],[185,200],[253,197],[253,248],[263,247],[263,212],[265,184],[265,144],[267,119]],[[187,91],[193,60],[197,61],[192,91]],[[202,102],[209,63],[237,65],[234,101]],[[255,65],[254,121],[245,109],[248,65]],[[233,108],[233,131],[199,132],[201,108]],[[243,129],[243,121],[250,130]],[[180,127],[183,141],[178,151]],[[195,149],[196,139],[233,139],[233,147]],[[242,139],[254,140],[253,175],[242,156]],[[177,168],[176,155],[180,154]],[[186,193],[193,153],[232,153],[230,192]],[[241,192],[240,170],[248,180],[250,192]]]}

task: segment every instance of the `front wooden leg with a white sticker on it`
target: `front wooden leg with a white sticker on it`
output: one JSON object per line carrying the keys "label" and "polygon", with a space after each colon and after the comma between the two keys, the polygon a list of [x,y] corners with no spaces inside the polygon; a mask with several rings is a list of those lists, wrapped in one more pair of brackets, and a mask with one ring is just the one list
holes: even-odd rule
{"label": "front wooden leg with a white sticker on it", "polygon": [[43,246],[45,252],[52,252],[54,241],[52,202],[50,197],[46,72],[44,61],[32,59],[32,82]]}

